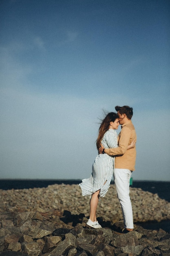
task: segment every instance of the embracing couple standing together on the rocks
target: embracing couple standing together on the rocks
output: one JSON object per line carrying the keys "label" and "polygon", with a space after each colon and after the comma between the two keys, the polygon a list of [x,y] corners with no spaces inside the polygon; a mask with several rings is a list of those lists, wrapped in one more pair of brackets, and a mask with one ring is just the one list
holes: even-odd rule
{"label": "embracing couple standing together on the rocks", "polygon": [[[99,197],[106,195],[113,175],[124,217],[122,233],[127,233],[134,228],[129,186],[132,171],[135,171],[137,137],[131,121],[133,109],[129,106],[116,106],[115,110],[117,113],[110,112],[102,120],[96,141],[99,154],[93,163],[91,177],[82,180],[79,186],[82,195],[91,195],[90,217],[86,224],[101,228],[96,218],[97,205]],[[121,132],[117,137],[119,124]]]}

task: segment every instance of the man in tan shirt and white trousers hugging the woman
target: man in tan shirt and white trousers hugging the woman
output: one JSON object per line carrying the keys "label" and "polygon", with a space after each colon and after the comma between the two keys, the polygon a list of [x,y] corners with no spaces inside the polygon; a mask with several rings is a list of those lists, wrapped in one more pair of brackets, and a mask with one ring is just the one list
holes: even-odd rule
{"label": "man in tan shirt and white trousers hugging the woman", "polygon": [[132,231],[134,228],[132,205],[129,195],[129,185],[132,171],[135,171],[136,160],[136,148],[134,147],[127,150],[127,147],[131,144],[132,141],[136,142],[137,136],[131,121],[133,109],[129,106],[116,106],[115,110],[119,116],[119,124],[121,124],[121,132],[118,135],[118,147],[104,148],[101,145],[101,148],[99,148],[99,153],[106,153],[108,155],[116,156],[113,175],[117,197],[121,204],[124,217],[125,229],[122,232],[127,233]]}

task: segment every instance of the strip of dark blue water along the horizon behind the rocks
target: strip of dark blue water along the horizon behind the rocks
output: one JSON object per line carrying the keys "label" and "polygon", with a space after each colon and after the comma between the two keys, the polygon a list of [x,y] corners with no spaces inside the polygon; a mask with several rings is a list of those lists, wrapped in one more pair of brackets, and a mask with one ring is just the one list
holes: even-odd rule
{"label": "strip of dark blue water along the horizon behind the rocks", "polygon": [[[79,184],[81,180],[0,180],[0,189],[33,189],[53,184]],[[111,184],[114,184],[112,181]],[[157,193],[160,198],[170,202],[170,182],[133,181],[131,187]]]}

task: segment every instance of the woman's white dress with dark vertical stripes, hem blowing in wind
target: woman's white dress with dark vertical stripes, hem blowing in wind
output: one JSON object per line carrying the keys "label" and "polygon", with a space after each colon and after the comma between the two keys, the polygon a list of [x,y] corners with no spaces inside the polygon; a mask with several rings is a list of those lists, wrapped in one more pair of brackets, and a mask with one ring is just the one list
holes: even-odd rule
{"label": "woman's white dress with dark vertical stripes, hem blowing in wind", "polygon": [[[116,148],[116,130],[107,130],[102,138],[101,144],[104,146],[104,148]],[[113,176],[114,162],[115,157],[113,156],[108,154],[97,155],[92,166],[91,177],[82,180],[82,183],[79,184],[82,189],[82,195],[92,195],[98,190],[100,190],[100,196],[104,197],[106,195]]]}

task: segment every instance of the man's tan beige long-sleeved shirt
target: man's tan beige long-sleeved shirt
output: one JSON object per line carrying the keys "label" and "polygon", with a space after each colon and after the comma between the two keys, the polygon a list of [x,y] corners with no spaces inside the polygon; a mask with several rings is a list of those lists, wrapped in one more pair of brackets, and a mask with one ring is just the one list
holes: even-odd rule
{"label": "man's tan beige long-sleeved shirt", "polygon": [[105,148],[108,155],[115,155],[115,168],[128,169],[135,171],[136,147],[127,150],[128,145],[137,139],[135,127],[132,121],[122,125],[121,132],[118,135],[117,148]]}

